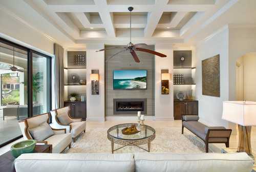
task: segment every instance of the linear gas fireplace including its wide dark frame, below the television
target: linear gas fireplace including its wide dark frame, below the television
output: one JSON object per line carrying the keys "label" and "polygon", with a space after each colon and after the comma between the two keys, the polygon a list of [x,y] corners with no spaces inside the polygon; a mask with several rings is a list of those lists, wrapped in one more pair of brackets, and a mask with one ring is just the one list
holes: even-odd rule
{"label": "linear gas fireplace including its wide dark frame, below the television", "polygon": [[114,115],[137,114],[138,111],[146,114],[146,99],[114,99],[113,103]]}

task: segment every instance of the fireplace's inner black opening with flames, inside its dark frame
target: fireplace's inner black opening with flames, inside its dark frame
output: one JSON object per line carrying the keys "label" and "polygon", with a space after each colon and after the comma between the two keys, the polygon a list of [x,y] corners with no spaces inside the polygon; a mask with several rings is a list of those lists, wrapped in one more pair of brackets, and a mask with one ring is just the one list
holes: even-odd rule
{"label": "fireplace's inner black opening with flames, inside its dark frame", "polygon": [[144,111],[143,101],[117,101],[117,111]]}

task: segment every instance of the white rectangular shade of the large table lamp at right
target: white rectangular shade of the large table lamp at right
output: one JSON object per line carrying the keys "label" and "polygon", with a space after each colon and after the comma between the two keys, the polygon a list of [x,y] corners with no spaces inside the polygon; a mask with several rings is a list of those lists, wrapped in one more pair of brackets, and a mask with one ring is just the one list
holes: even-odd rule
{"label": "white rectangular shade of the large table lamp at right", "polygon": [[256,125],[256,102],[223,101],[222,119],[243,126]]}

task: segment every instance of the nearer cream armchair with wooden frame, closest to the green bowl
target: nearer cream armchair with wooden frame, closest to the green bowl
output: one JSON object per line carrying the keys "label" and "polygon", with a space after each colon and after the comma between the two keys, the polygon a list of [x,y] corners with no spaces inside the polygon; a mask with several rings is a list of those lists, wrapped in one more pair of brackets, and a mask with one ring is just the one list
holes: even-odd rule
{"label": "nearer cream armchair with wooden frame, closest to the green bowl", "polygon": [[35,139],[36,144],[52,144],[52,153],[62,153],[71,148],[72,136],[66,129],[54,129],[49,125],[50,113],[36,115],[18,121],[24,140]]}

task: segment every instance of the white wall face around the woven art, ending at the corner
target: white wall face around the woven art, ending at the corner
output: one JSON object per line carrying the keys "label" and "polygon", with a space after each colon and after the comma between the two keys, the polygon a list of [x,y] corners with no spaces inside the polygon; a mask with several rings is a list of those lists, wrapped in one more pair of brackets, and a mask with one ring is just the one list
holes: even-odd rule
{"label": "white wall face around the woven art, ending at the corner", "polygon": [[[220,97],[202,95],[202,60],[220,54]],[[200,120],[211,126],[228,127],[222,120],[222,102],[228,100],[228,30],[205,39],[195,48],[196,99],[199,100]]]}

